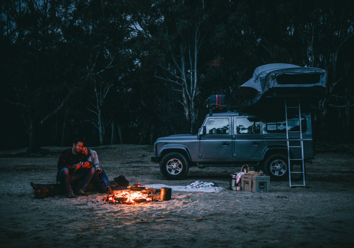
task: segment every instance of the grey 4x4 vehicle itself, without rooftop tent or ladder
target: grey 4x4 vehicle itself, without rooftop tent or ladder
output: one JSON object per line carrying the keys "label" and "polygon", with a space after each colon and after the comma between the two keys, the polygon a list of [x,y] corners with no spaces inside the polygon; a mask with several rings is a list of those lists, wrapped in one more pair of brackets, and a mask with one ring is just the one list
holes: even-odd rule
{"label": "grey 4x4 vehicle itself, without rooftop tent or ladder", "polygon": [[[279,111],[283,108],[280,108]],[[280,111],[281,113],[281,111]],[[288,116],[289,139],[299,138],[299,116]],[[311,118],[301,114],[304,159],[313,157]],[[293,144],[292,146],[296,146]],[[197,135],[158,138],[151,161],[160,163],[166,179],[182,179],[190,166],[262,169],[272,179],[289,178],[285,114],[227,111],[207,114]],[[301,149],[290,148],[290,158],[301,159]]]}

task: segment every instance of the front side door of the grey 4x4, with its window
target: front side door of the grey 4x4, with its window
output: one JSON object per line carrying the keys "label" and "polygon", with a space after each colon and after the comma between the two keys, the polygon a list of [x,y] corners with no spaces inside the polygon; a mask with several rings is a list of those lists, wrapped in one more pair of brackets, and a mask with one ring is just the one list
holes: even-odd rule
{"label": "front side door of the grey 4x4, with its window", "polygon": [[[199,159],[232,160],[231,117],[208,117],[206,134],[200,131]],[[226,160],[228,161],[228,160]]]}

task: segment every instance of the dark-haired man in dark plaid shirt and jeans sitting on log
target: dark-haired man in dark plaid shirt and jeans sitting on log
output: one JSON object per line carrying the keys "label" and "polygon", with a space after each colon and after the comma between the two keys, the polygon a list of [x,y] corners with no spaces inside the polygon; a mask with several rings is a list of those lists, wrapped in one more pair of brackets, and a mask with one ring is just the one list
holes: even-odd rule
{"label": "dark-haired man in dark plaid shirt and jeans sitting on log", "polygon": [[83,182],[78,191],[76,191],[76,195],[87,195],[85,192],[86,187],[95,174],[95,167],[92,167],[90,162],[85,162],[85,158],[81,153],[83,146],[83,140],[76,138],[73,147],[63,150],[58,159],[57,182],[65,184],[68,190],[68,198],[75,197],[70,183],[79,181],[80,179]]}

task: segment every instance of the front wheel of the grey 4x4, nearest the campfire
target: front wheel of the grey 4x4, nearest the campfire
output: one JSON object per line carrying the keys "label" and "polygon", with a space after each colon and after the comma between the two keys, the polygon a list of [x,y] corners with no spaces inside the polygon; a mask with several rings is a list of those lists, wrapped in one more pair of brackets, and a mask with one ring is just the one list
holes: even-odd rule
{"label": "front wheel of the grey 4x4, nearest the campfire", "polygon": [[188,160],[178,152],[167,153],[160,163],[162,176],[169,180],[182,179],[187,175],[188,169]]}

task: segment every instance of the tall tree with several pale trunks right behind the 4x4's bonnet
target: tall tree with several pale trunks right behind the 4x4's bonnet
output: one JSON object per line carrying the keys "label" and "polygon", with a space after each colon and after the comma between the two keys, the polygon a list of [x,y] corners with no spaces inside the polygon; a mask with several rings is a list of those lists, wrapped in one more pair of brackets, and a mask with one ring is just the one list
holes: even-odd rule
{"label": "tall tree with several pale trunks right behind the 4x4's bonnet", "polygon": [[207,41],[213,5],[212,1],[148,1],[131,8],[130,31],[160,49],[155,77],[170,84],[170,100],[181,104],[189,132],[198,116],[199,67],[204,64],[199,53]]}

